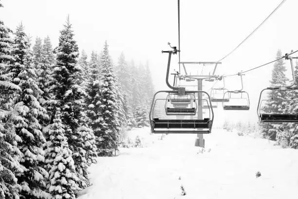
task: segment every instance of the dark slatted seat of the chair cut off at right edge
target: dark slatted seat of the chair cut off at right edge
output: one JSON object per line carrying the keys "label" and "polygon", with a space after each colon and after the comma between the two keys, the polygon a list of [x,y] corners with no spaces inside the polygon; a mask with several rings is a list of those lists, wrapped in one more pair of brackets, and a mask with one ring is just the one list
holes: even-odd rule
{"label": "dark slatted seat of the chair cut off at right edge", "polygon": [[298,122],[298,114],[260,114],[261,122]]}

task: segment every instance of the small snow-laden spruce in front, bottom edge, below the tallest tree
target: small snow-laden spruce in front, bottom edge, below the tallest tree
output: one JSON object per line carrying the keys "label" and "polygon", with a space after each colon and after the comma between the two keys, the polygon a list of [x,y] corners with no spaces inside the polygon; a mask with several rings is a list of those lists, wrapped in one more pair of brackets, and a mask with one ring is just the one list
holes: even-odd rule
{"label": "small snow-laden spruce in front, bottom edge, below the tallest tree", "polygon": [[49,172],[47,189],[55,199],[75,199],[75,191],[78,190],[75,182],[78,179],[59,108],[56,109],[53,123],[44,132],[48,135],[45,147],[45,168]]}

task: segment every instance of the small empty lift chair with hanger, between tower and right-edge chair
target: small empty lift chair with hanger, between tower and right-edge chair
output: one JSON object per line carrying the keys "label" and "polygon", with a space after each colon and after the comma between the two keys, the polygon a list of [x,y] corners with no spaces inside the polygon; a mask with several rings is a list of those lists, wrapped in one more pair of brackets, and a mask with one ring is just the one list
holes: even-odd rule
{"label": "small empty lift chair with hanger, between tower and right-edge chair", "polygon": [[249,96],[243,89],[242,74],[238,73],[241,78],[241,89],[235,91],[226,91],[223,94],[223,99],[228,99],[228,101],[223,100],[223,110],[249,110],[250,102]]}

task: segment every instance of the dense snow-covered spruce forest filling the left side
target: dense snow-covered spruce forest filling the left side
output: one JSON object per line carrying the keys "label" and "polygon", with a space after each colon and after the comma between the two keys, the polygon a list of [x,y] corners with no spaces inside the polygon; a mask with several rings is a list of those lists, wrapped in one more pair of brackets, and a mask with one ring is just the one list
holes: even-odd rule
{"label": "dense snow-covered spruce forest filling the left side", "polygon": [[97,156],[149,126],[149,65],[114,63],[107,41],[79,53],[69,17],[55,48],[24,26],[0,20],[0,199],[74,199]]}

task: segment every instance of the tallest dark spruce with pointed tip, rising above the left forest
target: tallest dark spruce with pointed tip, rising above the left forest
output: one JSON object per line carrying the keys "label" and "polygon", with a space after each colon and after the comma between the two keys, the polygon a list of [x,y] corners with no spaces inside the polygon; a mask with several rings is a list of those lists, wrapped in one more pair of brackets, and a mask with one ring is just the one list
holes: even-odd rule
{"label": "tallest dark spruce with pointed tip, rising above the left forest", "polygon": [[[47,101],[49,108],[55,114],[55,107],[61,110],[61,120],[64,125],[65,136],[72,151],[72,158],[75,161],[75,171],[78,175],[79,188],[85,188],[89,184],[87,174],[88,159],[86,153],[90,149],[89,142],[93,142],[94,136],[88,125],[82,125],[85,120],[83,114],[83,99],[86,93],[75,84],[80,75],[80,67],[77,66],[78,47],[74,40],[72,25],[67,18],[64,29],[60,31],[59,43],[54,50],[56,64],[52,74],[55,84],[51,87],[53,97]],[[82,127],[84,127],[82,129]]]}

